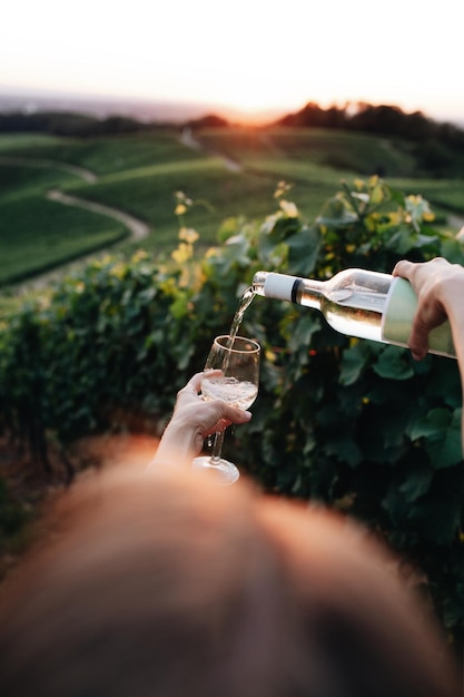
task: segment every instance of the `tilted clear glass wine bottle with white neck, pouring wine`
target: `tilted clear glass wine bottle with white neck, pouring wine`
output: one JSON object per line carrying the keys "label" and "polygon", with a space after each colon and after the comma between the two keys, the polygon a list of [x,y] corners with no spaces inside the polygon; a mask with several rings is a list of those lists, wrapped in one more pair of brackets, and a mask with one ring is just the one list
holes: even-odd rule
{"label": "tilted clear glass wine bottle with white neck, pouring wine", "polygon": [[[319,310],[342,334],[397,346],[407,346],[417,306],[408,281],[362,268],[347,268],[328,281],[259,271],[251,287],[256,295]],[[428,351],[456,357],[448,322],[432,330]]]}

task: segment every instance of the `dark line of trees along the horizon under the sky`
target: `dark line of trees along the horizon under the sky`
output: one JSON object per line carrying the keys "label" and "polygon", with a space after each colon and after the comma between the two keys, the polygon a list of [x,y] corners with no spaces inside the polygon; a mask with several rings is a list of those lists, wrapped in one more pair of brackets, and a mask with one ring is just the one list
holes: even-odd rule
{"label": "dark line of trees along the horizon under the sky", "polygon": [[[141,122],[125,116],[106,119],[85,114],[38,111],[24,114],[13,111],[0,114],[0,132],[47,132],[56,136],[98,137],[152,130],[155,128],[201,129],[233,126],[225,118],[207,115],[184,124],[159,121]],[[408,143],[409,151],[416,157],[425,175],[437,177],[464,176],[464,130],[451,122],[438,122],[422,111],[406,114],[397,106],[346,104],[326,109],[310,101],[303,109],[288,114],[268,127],[328,128],[361,131],[385,136]]]}

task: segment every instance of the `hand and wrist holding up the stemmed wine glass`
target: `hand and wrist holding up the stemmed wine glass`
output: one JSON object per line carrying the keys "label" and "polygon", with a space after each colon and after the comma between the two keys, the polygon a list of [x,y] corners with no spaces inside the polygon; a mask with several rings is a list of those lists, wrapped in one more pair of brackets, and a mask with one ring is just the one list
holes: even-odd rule
{"label": "hand and wrist holding up the stemmed wine glass", "polygon": [[[213,371],[220,373],[220,371]],[[150,468],[159,463],[190,465],[203,449],[204,439],[223,431],[231,423],[246,423],[248,411],[227,404],[223,400],[204,401],[199,396],[204,373],[197,373],[178,392],[172,418],[159,442]]]}

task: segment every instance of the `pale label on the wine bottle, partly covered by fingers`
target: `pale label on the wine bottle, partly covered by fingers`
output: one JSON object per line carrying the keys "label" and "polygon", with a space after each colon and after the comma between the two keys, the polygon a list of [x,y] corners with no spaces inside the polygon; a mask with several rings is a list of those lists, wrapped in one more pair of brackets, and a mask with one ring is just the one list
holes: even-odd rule
{"label": "pale label on the wine bottle, partly covered by fingers", "polygon": [[[382,340],[388,344],[407,346],[416,307],[417,296],[411,283],[405,278],[395,277],[382,317]],[[432,330],[428,335],[428,351],[437,355],[456,357],[448,322]]]}

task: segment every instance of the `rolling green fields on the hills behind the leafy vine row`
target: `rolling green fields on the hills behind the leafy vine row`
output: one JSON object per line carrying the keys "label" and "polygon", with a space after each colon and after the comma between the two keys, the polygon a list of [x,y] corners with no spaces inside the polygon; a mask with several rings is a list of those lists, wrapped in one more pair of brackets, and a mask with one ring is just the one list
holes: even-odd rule
{"label": "rolling green fields on the hills behind the leafy vine row", "polygon": [[[273,213],[279,179],[293,183],[290,198],[308,220],[340,179],[374,171],[405,193],[423,194],[442,215],[464,215],[463,181],[413,179],[406,143],[283,128],[205,129],[196,137],[201,148],[188,147],[175,130],[88,139],[0,136],[0,286],[108,246],[168,255],[177,245],[177,190],[196,202],[186,223],[205,248],[225,218]],[[149,234],[134,242],[109,215],[48,200],[50,189],[124,210]]]}

